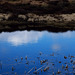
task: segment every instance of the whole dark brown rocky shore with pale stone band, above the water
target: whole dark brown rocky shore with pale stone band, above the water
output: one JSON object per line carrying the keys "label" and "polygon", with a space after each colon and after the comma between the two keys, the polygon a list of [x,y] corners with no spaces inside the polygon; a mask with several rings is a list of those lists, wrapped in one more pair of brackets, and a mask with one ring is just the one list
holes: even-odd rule
{"label": "whole dark brown rocky shore with pale stone band, above the water", "polygon": [[75,2],[49,1],[0,4],[0,31],[75,30]]}

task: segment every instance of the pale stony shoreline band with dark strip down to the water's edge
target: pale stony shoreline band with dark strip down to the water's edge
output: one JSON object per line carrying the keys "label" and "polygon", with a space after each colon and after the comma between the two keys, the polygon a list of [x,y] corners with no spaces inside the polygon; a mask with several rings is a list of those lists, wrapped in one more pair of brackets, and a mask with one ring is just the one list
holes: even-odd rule
{"label": "pale stony shoreline band with dark strip down to the water's edge", "polygon": [[64,32],[75,30],[75,13],[72,14],[45,14],[12,15],[0,13],[0,32],[16,30],[48,30]]}

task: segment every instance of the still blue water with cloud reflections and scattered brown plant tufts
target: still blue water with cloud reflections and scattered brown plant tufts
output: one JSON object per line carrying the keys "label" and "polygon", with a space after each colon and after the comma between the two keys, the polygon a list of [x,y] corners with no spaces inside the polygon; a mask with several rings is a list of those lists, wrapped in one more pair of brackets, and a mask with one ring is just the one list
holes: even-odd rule
{"label": "still blue water with cloud reflections and scattered brown plant tufts", "polygon": [[75,75],[75,31],[0,33],[0,75]]}

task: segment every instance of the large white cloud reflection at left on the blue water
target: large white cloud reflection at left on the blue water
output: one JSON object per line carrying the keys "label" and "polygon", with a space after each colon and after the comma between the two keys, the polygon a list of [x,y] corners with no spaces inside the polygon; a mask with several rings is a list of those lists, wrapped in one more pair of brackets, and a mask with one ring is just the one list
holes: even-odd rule
{"label": "large white cloud reflection at left on the blue water", "polygon": [[0,41],[4,40],[12,45],[18,46],[27,43],[37,43],[38,39],[42,37],[42,33],[37,31],[18,31],[12,33],[2,33],[0,34]]}

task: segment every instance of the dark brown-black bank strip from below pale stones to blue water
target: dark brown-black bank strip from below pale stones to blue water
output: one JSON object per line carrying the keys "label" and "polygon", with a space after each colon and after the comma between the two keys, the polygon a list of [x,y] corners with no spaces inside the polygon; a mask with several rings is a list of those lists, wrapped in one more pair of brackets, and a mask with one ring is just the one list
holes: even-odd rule
{"label": "dark brown-black bank strip from below pale stones to blue water", "polygon": [[[43,24],[43,23],[9,23],[5,25],[0,25],[0,32],[12,32],[12,31],[23,31],[23,30],[36,30],[36,31],[44,31],[47,30],[49,32],[66,32],[75,30],[75,24],[69,25],[70,23],[66,23],[65,25],[61,25],[61,23],[51,23],[51,24]],[[61,26],[60,26],[61,25]]]}

